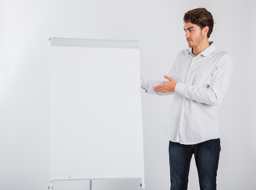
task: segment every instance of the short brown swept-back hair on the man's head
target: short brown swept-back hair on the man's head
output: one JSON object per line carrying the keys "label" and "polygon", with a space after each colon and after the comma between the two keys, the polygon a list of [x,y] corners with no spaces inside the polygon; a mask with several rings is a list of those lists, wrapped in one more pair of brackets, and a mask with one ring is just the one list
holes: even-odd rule
{"label": "short brown swept-back hair on the man's head", "polygon": [[191,11],[187,11],[183,18],[184,22],[191,22],[192,24],[198,25],[201,29],[208,26],[209,31],[207,33],[207,38],[210,37],[213,31],[213,16],[205,8],[197,8]]}

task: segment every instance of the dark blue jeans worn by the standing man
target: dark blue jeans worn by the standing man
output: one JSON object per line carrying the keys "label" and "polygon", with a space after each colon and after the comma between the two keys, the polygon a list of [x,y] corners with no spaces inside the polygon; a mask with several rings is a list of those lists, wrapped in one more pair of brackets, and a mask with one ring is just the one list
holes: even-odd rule
{"label": "dark blue jeans worn by the standing man", "polygon": [[200,190],[216,190],[220,139],[195,145],[169,143],[171,190],[187,190],[192,154],[198,169]]}

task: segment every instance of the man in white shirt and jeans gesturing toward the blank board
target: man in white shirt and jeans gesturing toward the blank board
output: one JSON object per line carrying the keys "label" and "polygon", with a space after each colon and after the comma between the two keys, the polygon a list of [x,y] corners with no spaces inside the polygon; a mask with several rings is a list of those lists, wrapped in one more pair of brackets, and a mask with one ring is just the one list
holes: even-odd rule
{"label": "man in white shirt and jeans gesturing toward the blank board", "polygon": [[231,56],[216,49],[208,38],[213,17],[198,8],[184,15],[185,37],[190,49],[181,51],[167,81],[141,78],[149,94],[174,94],[166,122],[169,142],[171,190],[186,190],[192,154],[200,190],[216,190],[220,154],[220,114],[232,71]]}

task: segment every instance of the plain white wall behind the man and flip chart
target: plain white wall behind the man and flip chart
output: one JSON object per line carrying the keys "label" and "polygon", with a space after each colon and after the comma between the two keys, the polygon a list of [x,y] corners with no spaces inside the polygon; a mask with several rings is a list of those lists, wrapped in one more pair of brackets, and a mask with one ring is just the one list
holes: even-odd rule
{"label": "plain white wall behind the man and flip chart", "polygon": [[[229,52],[234,72],[221,127],[218,190],[255,189],[255,1],[1,0],[0,189],[49,186],[50,37],[140,41],[141,76],[163,78],[187,48],[186,11],[206,7],[216,22],[210,40]],[[99,89],[100,90],[100,89]],[[121,96],[121,94],[120,94]],[[164,124],[172,97],[142,92],[146,190],[168,190],[168,140]],[[140,181],[93,182],[94,190],[137,190]],[[87,181],[56,183],[86,190]],[[197,190],[192,159],[189,190]]]}

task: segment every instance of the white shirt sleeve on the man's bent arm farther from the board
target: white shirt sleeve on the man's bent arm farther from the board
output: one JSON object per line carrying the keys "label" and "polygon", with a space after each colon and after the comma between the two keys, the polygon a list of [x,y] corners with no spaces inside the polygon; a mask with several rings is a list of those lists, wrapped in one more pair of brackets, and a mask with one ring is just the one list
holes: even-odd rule
{"label": "white shirt sleeve on the man's bent arm farther from the board", "polygon": [[208,87],[197,87],[178,82],[175,86],[175,92],[200,103],[218,105],[223,101],[229,87],[232,69],[232,58],[229,54],[225,54],[213,72]]}

